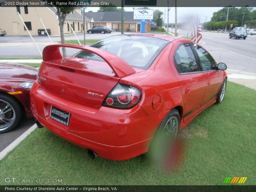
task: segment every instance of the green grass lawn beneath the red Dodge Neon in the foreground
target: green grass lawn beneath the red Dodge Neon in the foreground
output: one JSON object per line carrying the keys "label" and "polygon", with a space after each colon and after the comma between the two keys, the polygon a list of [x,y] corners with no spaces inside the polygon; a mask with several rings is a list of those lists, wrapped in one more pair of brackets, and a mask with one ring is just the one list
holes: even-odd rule
{"label": "green grass lawn beneath the red Dodge Neon in the foreground", "polygon": [[5,177],[62,179],[62,185],[222,185],[225,177],[248,177],[244,185],[255,185],[255,98],[256,91],[228,82],[223,102],[207,108],[181,132],[185,158],[171,173],[143,156],[92,160],[86,150],[43,128],[1,161],[0,185],[12,185],[4,183]]}

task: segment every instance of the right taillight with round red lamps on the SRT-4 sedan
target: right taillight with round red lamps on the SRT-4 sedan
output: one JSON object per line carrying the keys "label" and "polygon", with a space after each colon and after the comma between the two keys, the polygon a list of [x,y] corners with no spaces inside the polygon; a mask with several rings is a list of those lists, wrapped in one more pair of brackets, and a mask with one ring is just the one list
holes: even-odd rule
{"label": "right taillight with round red lamps on the SRT-4 sedan", "polygon": [[140,101],[139,89],[125,84],[117,84],[105,98],[103,105],[114,108],[131,108]]}

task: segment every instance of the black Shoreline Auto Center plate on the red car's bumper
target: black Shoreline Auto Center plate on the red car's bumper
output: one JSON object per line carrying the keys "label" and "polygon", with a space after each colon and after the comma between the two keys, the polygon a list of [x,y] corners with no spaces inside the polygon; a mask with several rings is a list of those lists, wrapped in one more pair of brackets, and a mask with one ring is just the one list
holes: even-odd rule
{"label": "black Shoreline Auto Center plate on the red car's bumper", "polygon": [[51,114],[50,117],[55,121],[58,121],[66,126],[68,126],[70,113],[63,111],[59,108],[51,106]]}

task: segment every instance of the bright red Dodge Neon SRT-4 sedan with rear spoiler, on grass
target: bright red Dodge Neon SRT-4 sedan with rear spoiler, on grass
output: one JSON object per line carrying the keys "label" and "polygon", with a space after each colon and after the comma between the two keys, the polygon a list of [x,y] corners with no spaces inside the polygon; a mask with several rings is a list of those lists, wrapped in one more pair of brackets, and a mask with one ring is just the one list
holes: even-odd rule
{"label": "bright red Dodge Neon SRT-4 sedan with rear spoiler, on grass", "polygon": [[[62,58],[60,47],[79,49]],[[44,48],[31,93],[39,127],[100,157],[148,151],[156,132],[176,135],[225,95],[224,63],[193,42],[165,35],[116,35],[91,46]]]}

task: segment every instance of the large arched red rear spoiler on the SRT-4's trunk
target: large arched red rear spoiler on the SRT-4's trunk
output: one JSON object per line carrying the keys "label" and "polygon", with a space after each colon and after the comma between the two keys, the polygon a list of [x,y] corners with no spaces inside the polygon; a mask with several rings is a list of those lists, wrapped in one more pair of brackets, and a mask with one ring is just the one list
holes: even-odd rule
{"label": "large arched red rear spoiler on the SRT-4's trunk", "polygon": [[112,68],[116,76],[119,78],[135,73],[135,70],[117,55],[98,49],[98,48],[89,47],[89,46],[85,47],[85,46],[73,45],[73,44],[48,45],[44,48],[44,51],[43,51],[43,61],[62,59],[62,55],[59,49],[60,47],[68,47],[68,48],[85,50],[100,56],[103,60],[106,61],[106,63],[108,63],[108,65]]}

